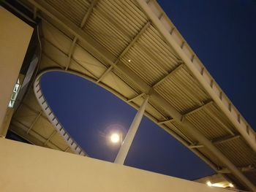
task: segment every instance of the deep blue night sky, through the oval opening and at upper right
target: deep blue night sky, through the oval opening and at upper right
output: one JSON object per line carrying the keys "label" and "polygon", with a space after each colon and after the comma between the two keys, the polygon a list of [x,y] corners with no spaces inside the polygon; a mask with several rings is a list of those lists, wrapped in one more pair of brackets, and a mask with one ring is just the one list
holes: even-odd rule
{"label": "deep blue night sky, through the oval opening and at upper right", "polygon": [[[256,1],[159,1],[238,110],[256,128]],[[127,132],[136,111],[108,91],[72,74],[49,73],[42,89],[61,123],[92,158],[113,161],[115,129]],[[125,162],[193,180],[214,172],[161,128],[143,118]]]}

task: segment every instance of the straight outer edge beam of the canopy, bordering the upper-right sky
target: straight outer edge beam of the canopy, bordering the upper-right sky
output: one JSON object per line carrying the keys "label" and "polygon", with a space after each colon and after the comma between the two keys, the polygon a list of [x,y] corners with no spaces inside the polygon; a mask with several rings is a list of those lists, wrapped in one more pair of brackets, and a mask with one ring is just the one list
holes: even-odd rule
{"label": "straight outer edge beam of the canopy, bordering the upper-right sky", "polygon": [[[159,20],[157,15],[159,15],[160,12],[163,13],[162,9],[160,9],[156,1],[148,1],[148,0],[137,0],[137,3],[140,7],[140,9],[145,12],[147,15],[148,19],[151,20],[152,24],[157,28],[159,33],[162,35],[162,37],[165,39],[165,42],[167,45],[173,48],[175,52],[178,54],[178,56],[184,61],[186,66],[188,67],[189,71],[193,74],[195,79],[200,82],[200,85],[203,86],[203,88],[206,90],[206,93],[208,93],[214,102],[217,104],[217,106],[224,112],[226,117],[233,123],[233,125],[236,127],[236,129],[240,132],[240,134],[244,137],[246,142],[249,144],[250,147],[252,147],[252,150],[256,152],[256,140],[255,140],[255,134],[247,134],[246,133],[246,126],[248,123],[246,123],[246,120],[243,118],[243,123],[241,123],[241,115],[239,114],[238,110],[236,110],[236,107],[231,104],[229,99],[227,99],[227,96],[223,96],[223,91],[219,88],[218,85],[214,84],[214,80],[211,77],[210,74],[208,74],[206,71],[205,67],[203,64],[200,64],[199,61],[199,67],[195,66],[193,63],[195,58],[195,53],[192,52],[189,46],[186,45],[187,50],[190,51],[190,53],[185,53],[184,52],[184,44],[181,47],[181,45],[178,45],[176,42],[176,39],[172,36],[172,31],[169,30],[170,28],[174,28],[169,22],[169,19],[165,18],[165,21],[162,22]],[[178,37],[179,41],[185,42],[185,40],[182,37]],[[200,68],[200,69],[199,69]],[[208,79],[211,81],[209,82]],[[214,89],[215,88],[215,89]],[[219,93],[218,93],[219,92]],[[220,96],[222,97],[220,98]],[[225,100],[225,102],[223,102]],[[227,107],[226,103],[230,103],[230,107]],[[236,115],[233,115],[232,110],[235,110]],[[252,130],[252,133],[255,133],[255,131]],[[256,191],[256,189],[255,189]]]}

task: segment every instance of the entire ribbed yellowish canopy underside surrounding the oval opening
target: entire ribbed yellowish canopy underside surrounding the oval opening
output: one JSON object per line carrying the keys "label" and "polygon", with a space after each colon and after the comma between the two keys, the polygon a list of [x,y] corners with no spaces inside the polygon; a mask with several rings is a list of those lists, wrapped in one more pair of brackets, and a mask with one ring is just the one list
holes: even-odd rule
{"label": "entire ribbed yellowish canopy underside surrounding the oval opening", "polygon": [[[42,19],[39,72],[77,74],[135,109],[149,95],[148,118],[238,188],[254,191],[255,132],[158,4],[70,2],[22,1]],[[31,89],[10,130],[35,145],[72,152],[37,99]]]}

